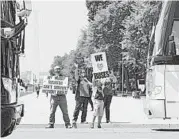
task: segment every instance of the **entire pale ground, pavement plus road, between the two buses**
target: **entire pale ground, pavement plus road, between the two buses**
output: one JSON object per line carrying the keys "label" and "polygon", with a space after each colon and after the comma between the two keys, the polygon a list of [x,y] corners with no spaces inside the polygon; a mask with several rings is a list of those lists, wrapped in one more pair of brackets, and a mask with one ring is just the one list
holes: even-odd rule
{"label": "entire pale ground, pavement plus road, between the two buses", "polygon": [[[102,129],[89,128],[89,124],[80,124],[78,119],[77,129],[65,129],[60,109],[57,109],[56,124],[54,129],[45,129],[48,124],[50,97],[40,93],[28,94],[20,98],[25,104],[25,117],[12,135],[7,139],[72,139],[72,138],[122,138],[122,139],[176,139],[179,137],[178,120],[147,119],[143,112],[143,99],[132,97],[113,97],[111,104],[111,123],[105,122],[103,117]],[[72,119],[75,107],[74,94],[67,94],[68,110]],[[88,106],[87,121],[92,120],[92,111]],[[156,131],[155,129],[159,130]],[[164,131],[162,131],[164,130]]]}

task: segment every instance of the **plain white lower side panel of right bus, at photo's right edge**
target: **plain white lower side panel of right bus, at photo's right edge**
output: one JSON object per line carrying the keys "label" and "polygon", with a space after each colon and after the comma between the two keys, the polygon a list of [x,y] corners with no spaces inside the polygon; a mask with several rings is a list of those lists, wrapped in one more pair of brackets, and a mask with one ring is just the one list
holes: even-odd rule
{"label": "plain white lower side panel of right bus, at photo's right edge", "polygon": [[165,71],[166,114],[179,118],[179,65],[168,65]]}

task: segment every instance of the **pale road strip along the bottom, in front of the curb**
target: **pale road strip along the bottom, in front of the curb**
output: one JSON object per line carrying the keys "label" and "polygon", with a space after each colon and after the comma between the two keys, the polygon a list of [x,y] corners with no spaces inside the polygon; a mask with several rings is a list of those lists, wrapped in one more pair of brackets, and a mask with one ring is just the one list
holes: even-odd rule
{"label": "pale road strip along the bottom, in front of the curb", "polygon": [[179,131],[151,128],[18,128],[6,139],[178,139]]}

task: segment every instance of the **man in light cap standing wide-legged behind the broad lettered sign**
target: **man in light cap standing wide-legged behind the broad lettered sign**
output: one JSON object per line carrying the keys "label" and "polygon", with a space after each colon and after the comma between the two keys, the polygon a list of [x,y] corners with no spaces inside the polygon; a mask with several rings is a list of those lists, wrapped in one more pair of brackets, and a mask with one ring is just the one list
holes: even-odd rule
{"label": "man in light cap standing wide-legged behind the broad lettered sign", "polygon": [[[53,78],[60,78],[62,80],[65,79],[64,76],[62,76],[61,68],[59,66],[54,67],[55,76]],[[55,124],[55,113],[57,106],[60,107],[62,114],[63,114],[63,120],[65,122],[66,128],[71,128],[70,119],[68,115],[68,105],[67,105],[67,99],[66,99],[66,93],[64,94],[51,94],[50,96],[50,117],[49,117],[49,124],[46,126],[46,128],[54,128]]]}

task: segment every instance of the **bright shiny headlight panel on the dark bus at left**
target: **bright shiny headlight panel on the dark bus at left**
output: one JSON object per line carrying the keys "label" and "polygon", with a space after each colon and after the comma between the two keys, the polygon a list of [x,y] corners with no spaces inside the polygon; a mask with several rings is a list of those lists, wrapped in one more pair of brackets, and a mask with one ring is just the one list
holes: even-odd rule
{"label": "bright shiny headlight panel on the dark bus at left", "polygon": [[12,80],[9,78],[2,78],[2,82],[4,85],[4,89],[7,91],[5,94],[3,94],[6,100],[4,102],[6,103],[14,103],[16,102],[16,87],[13,86]]}

